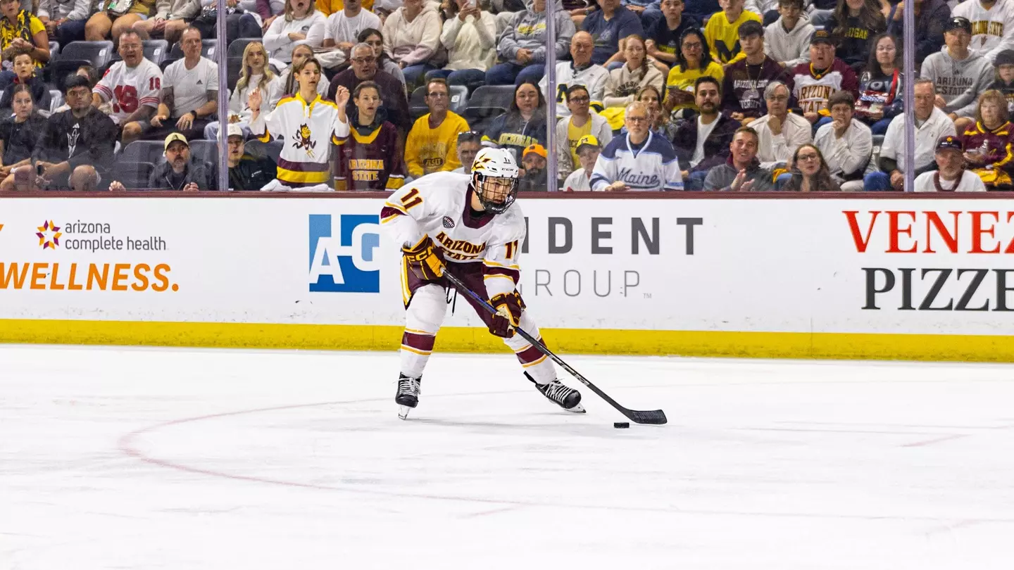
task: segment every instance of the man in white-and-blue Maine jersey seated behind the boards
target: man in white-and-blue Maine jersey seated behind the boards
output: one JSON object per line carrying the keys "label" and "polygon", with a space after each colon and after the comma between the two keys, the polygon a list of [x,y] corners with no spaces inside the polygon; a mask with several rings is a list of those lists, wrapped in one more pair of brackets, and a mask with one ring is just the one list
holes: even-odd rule
{"label": "man in white-and-blue Maine jersey seated behind the boards", "polygon": [[598,155],[591,174],[591,189],[682,190],[679,162],[669,141],[651,132],[651,116],[641,101],[627,105],[627,135],[617,137]]}

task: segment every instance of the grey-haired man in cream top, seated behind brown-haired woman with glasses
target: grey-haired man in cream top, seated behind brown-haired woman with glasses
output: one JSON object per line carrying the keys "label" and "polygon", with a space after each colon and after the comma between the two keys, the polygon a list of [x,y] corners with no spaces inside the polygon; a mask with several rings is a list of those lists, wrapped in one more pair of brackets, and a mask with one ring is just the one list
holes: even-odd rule
{"label": "grey-haired man in cream top, seated behind brown-haired woman with glasses", "polygon": [[785,83],[768,83],[764,98],[768,115],[750,123],[760,141],[757,158],[766,168],[784,167],[797,148],[812,142],[813,128],[809,121],[789,113],[789,87]]}

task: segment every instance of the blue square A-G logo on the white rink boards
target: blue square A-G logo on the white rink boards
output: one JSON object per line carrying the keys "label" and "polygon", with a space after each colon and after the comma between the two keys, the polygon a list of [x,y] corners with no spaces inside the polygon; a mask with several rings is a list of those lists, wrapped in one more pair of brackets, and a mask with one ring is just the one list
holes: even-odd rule
{"label": "blue square A-G logo on the white rink boards", "polygon": [[380,217],[311,214],[309,290],[328,293],[380,291]]}

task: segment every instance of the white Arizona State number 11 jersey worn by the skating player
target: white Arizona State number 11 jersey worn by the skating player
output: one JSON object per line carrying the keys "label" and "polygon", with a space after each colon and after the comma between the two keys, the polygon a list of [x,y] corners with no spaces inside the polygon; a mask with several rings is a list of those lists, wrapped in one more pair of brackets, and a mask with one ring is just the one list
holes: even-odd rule
{"label": "white Arizona State number 11 jersey worn by the skating player", "polygon": [[[380,225],[399,246],[429,236],[448,262],[482,263],[490,297],[514,290],[524,240],[524,214],[517,203],[495,216],[472,215],[469,174],[433,172],[408,184],[387,198]],[[403,294],[411,293],[405,279]]]}

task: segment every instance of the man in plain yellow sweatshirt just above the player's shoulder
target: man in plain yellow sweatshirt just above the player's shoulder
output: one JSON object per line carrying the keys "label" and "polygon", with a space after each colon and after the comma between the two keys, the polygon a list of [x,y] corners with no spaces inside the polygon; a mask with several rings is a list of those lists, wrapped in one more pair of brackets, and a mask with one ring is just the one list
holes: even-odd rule
{"label": "man in plain yellow sweatshirt just above the player's shoulder", "polygon": [[415,179],[459,167],[457,135],[469,130],[467,121],[448,111],[450,89],[445,79],[426,83],[426,105],[430,112],[416,121],[405,143],[405,163]]}

